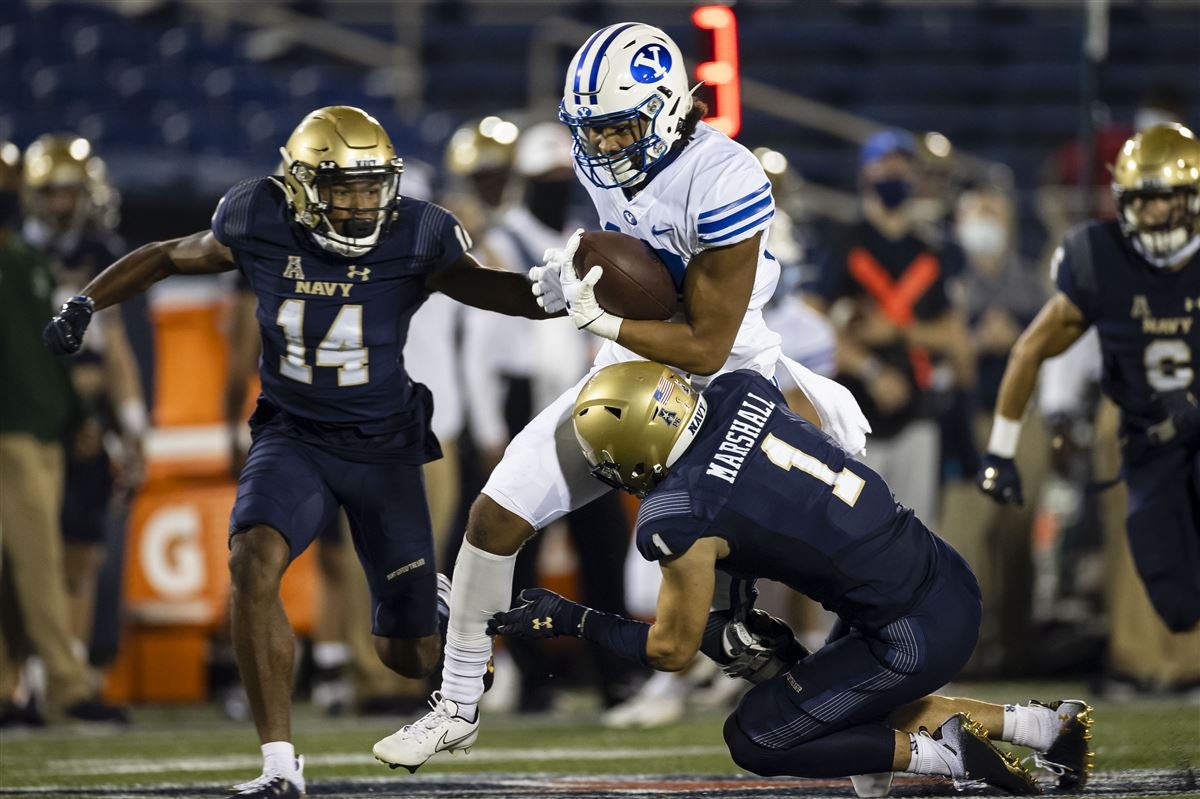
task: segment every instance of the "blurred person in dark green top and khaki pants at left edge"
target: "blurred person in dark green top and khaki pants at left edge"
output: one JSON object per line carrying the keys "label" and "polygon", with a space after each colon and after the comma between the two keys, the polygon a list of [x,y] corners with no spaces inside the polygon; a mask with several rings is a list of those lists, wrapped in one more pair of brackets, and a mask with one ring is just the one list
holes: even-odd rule
{"label": "blurred person in dark green top and khaki pants at left edge", "polygon": [[46,668],[52,717],[124,721],[96,696],[71,629],[59,513],[78,398],[66,365],[42,347],[54,278],[18,232],[17,163],[16,148],[0,143],[0,723],[38,720],[32,698],[17,696],[31,654]]}

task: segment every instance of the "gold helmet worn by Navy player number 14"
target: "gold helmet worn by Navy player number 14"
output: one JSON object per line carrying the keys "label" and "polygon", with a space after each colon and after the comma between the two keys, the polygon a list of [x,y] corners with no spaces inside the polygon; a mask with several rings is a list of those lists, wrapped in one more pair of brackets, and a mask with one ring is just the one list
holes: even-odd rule
{"label": "gold helmet worn by Navy player number 14", "polygon": [[[280,154],[293,217],[322,247],[361,256],[378,242],[400,202],[404,162],[373,116],[350,106],[318,108],[300,121]],[[364,186],[378,197],[377,205],[335,197],[361,197]],[[337,227],[331,215],[343,217]]]}

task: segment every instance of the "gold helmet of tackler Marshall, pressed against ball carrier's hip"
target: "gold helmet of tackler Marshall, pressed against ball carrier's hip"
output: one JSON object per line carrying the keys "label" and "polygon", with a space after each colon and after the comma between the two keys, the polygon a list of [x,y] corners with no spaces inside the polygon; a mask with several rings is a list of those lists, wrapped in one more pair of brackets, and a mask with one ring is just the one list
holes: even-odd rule
{"label": "gold helmet of tackler Marshall, pressed against ball carrier's hip", "polygon": [[575,400],[575,437],[595,477],[644,497],[704,421],[704,398],[661,364],[606,366]]}

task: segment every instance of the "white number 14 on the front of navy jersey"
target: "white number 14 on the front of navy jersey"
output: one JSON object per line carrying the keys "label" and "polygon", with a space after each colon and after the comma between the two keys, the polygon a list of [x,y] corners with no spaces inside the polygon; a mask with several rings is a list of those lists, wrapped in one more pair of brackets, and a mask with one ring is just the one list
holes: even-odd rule
{"label": "white number 14 on the front of navy jersey", "polygon": [[[283,328],[288,352],[280,358],[280,374],[299,383],[312,383],[312,367],[305,361],[304,300],[284,300],[275,324]],[[367,382],[367,348],[362,346],[362,306],[343,305],[317,346],[317,366],[337,368],[337,385]]]}

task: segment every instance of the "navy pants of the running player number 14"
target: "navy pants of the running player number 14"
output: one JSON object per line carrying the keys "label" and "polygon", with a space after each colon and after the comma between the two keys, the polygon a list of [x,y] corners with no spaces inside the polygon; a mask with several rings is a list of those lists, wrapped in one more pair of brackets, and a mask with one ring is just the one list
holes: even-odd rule
{"label": "navy pants of the running player number 14", "polygon": [[280,531],[295,559],[346,510],[371,588],[371,630],[420,638],[438,630],[433,531],[421,467],[358,463],[266,428],[238,480],[230,537],[256,524]]}

